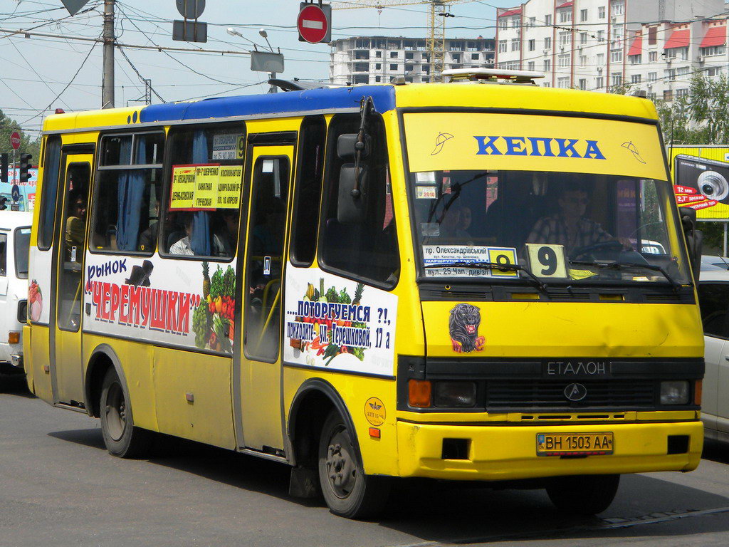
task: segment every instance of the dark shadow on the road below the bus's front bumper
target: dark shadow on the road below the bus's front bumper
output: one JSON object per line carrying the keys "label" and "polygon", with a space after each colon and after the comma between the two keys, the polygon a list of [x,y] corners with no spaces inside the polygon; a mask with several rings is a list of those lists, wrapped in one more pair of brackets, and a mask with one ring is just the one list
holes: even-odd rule
{"label": "dark shadow on the road below the bus's front bumper", "polygon": [[[725,508],[719,514],[726,518],[703,516],[701,524],[697,519],[691,526],[682,526],[680,534],[729,530],[729,497],[647,475],[623,476],[615,502],[593,517],[560,513],[544,490],[492,490],[440,483],[430,486],[412,485],[399,490],[399,503],[391,501],[389,516],[381,525],[433,542],[504,541],[521,545],[547,538],[676,535],[679,521],[702,517],[701,511]],[[654,525],[642,525],[649,523]]]}

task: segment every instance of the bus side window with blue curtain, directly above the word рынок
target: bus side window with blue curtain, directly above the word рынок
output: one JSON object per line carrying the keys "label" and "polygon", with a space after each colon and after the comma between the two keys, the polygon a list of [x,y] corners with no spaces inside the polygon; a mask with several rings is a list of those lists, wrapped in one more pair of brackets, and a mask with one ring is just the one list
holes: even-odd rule
{"label": "bus side window with blue curtain, directly above the word \u0440\u044b\u043d\u043e\u043a", "polygon": [[155,252],[165,134],[106,135],[93,203],[93,251]]}

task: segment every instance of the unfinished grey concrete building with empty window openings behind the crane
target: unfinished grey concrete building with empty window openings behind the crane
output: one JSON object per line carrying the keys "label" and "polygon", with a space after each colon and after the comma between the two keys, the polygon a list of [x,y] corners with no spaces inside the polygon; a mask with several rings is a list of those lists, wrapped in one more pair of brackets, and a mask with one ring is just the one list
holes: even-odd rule
{"label": "unfinished grey concrete building with empty window openings behind the crane", "polygon": [[[425,38],[353,36],[330,43],[330,82],[375,84],[404,76],[408,82],[430,82],[430,57]],[[494,66],[494,39],[445,40],[445,68]]]}

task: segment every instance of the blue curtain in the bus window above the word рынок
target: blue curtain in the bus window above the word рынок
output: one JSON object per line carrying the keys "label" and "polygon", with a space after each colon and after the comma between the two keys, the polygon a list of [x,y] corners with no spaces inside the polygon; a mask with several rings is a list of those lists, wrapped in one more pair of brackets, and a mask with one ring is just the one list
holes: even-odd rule
{"label": "blue curtain in the bus window above the word \u0440\u044b\u043d\u043e\u043a", "polygon": [[[136,136],[136,158],[144,158],[145,136]],[[131,139],[123,139],[120,157],[129,157]],[[117,209],[117,249],[136,251],[139,238],[139,216],[144,197],[144,170],[122,171],[119,175]]]}

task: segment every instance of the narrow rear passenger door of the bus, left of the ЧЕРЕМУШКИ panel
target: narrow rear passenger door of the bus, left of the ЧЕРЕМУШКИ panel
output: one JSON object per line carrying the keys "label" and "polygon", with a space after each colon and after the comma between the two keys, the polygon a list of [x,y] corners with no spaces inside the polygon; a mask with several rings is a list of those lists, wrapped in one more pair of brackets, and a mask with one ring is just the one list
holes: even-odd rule
{"label": "narrow rear passenger door of the bus, left of the \u0427\u0415\u0420\u0415\u041c\u0423\u0428\u041a\u0418 panel", "polygon": [[55,403],[84,402],[81,362],[87,200],[93,154],[63,155],[63,205],[55,245],[56,292],[51,330],[51,381]]}

